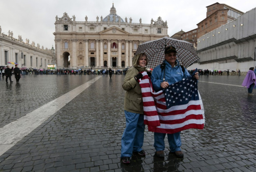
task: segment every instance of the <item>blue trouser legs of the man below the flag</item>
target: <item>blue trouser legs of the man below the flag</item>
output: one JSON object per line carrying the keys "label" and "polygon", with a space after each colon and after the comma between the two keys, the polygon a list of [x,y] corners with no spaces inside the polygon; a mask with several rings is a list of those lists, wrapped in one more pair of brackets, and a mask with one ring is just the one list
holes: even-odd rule
{"label": "blue trouser legs of the man below the flag", "polygon": [[[171,152],[176,152],[181,150],[181,132],[176,132],[174,134],[167,134],[168,142],[169,142],[169,147]],[[154,147],[155,150],[165,150],[165,133],[159,133],[155,132],[154,133]]]}

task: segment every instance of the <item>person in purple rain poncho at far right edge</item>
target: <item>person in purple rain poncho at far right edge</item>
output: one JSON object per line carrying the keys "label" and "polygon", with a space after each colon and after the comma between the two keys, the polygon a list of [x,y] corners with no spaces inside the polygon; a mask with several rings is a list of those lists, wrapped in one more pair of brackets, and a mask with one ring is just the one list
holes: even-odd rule
{"label": "person in purple rain poncho at far right edge", "polygon": [[250,67],[249,71],[247,72],[245,79],[243,80],[242,86],[248,88],[248,95],[252,94],[253,88],[256,85],[256,76],[254,74],[254,67]]}

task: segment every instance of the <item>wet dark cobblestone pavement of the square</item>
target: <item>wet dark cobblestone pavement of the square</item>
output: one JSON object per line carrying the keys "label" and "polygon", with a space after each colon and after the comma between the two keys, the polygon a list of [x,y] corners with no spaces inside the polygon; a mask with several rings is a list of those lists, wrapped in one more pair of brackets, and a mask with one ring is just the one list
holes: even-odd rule
{"label": "wet dark cobblestone pavement of the square", "polygon": [[[0,127],[93,77],[26,76],[17,84],[0,80]],[[256,172],[256,95],[239,87],[245,76],[200,76],[206,123],[203,130],[182,131],[184,158],[169,154],[167,138],[165,158],[156,157],[153,133],[146,127],[146,155],[134,154],[129,165],[120,163],[124,77],[102,76],[2,154],[0,171]]]}

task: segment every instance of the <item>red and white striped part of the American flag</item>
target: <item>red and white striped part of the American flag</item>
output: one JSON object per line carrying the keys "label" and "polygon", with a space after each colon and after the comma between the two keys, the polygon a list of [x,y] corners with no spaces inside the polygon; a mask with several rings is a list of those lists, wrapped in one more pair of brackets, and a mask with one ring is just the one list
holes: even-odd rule
{"label": "red and white striped part of the American flag", "polygon": [[165,93],[154,92],[151,80],[142,72],[139,85],[142,90],[144,123],[149,131],[173,134],[186,129],[203,129],[205,115],[202,100],[191,100],[186,104],[174,105],[167,109]]}

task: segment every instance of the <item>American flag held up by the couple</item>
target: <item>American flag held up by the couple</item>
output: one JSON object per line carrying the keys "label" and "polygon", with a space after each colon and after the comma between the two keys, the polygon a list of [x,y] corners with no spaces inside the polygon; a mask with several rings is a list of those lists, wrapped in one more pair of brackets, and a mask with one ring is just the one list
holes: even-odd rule
{"label": "American flag held up by the couple", "polygon": [[197,79],[186,77],[163,91],[154,92],[146,72],[139,79],[144,123],[149,131],[173,134],[186,129],[203,129],[205,115]]}

